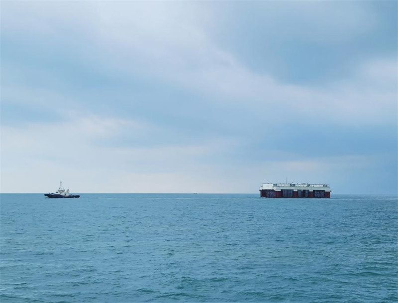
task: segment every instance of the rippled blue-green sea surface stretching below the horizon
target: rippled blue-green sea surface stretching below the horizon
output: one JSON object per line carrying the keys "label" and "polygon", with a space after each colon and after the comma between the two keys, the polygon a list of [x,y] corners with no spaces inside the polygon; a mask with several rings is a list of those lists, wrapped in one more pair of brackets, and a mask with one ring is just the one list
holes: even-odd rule
{"label": "rippled blue-green sea surface stretching below the horizon", "polygon": [[398,201],[0,195],[0,302],[398,302]]}

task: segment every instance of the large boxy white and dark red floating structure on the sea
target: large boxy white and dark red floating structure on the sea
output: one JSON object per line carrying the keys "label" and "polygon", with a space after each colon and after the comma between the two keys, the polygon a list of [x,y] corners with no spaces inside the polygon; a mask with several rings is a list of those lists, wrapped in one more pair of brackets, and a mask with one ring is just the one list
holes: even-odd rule
{"label": "large boxy white and dark red floating structure on the sea", "polygon": [[262,183],[264,198],[330,198],[330,185],[308,183]]}

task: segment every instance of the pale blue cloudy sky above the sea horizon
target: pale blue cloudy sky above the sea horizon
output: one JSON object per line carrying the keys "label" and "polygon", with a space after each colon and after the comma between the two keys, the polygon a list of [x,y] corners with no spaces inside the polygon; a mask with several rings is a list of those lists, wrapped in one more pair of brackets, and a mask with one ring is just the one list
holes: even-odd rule
{"label": "pale blue cloudy sky above the sea horizon", "polygon": [[397,1],[1,1],[1,192],[397,194]]}

